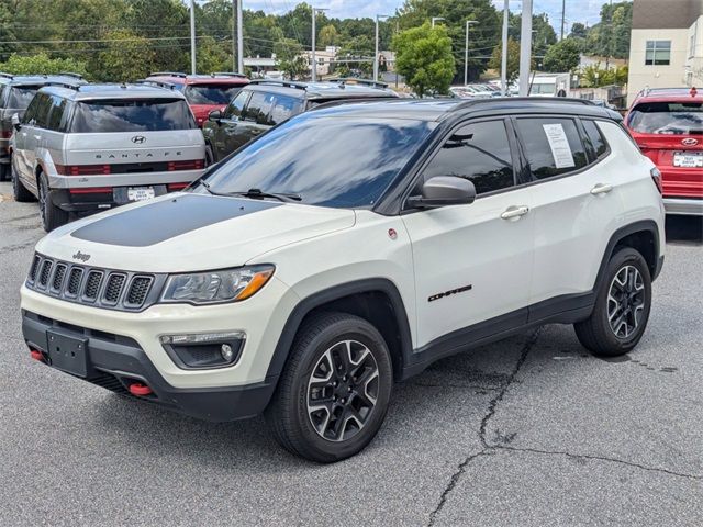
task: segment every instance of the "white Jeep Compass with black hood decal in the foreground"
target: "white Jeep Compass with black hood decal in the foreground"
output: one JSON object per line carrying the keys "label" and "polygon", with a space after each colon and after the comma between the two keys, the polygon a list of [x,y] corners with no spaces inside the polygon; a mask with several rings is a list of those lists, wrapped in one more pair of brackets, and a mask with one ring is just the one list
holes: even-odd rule
{"label": "white Jeep Compass with black hood decal in the foreground", "polygon": [[291,452],[347,458],[394,381],[467,347],[547,323],[601,356],[637,345],[663,208],[621,121],[563,99],[305,112],[187,192],[42,239],[24,339],[88,382],[264,412]]}

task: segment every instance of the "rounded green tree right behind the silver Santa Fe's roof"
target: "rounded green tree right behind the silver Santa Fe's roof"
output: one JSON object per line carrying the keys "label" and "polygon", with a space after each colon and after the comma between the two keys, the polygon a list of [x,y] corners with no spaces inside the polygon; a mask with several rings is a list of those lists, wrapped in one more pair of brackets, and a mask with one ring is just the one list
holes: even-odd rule
{"label": "rounded green tree right behind the silver Santa Fe's roof", "polygon": [[129,82],[146,77],[154,69],[156,53],[142,36],[127,30],[105,33],[108,46],[100,52],[103,79],[112,82]]}

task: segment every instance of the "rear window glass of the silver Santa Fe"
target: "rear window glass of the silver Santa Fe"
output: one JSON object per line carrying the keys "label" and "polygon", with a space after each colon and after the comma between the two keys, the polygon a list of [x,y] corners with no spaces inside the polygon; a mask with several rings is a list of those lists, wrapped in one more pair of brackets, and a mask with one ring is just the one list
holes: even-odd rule
{"label": "rear window glass of the silver Santa Fe", "polygon": [[196,128],[182,99],[115,99],[80,102],[71,132],[158,132]]}

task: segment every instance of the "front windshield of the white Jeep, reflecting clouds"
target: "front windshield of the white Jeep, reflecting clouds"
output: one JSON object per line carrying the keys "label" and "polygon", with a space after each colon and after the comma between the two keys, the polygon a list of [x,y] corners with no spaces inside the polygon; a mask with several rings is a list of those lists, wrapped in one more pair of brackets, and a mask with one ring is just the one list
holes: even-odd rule
{"label": "front windshield of the white Jeep, reflecting clouds", "polygon": [[272,128],[215,170],[213,192],[298,194],[334,208],[373,205],[434,123],[303,114]]}

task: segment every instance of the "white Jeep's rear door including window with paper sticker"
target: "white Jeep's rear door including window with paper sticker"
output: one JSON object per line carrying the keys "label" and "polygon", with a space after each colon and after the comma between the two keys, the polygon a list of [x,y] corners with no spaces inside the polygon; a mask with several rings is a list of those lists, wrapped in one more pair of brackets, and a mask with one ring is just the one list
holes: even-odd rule
{"label": "white Jeep's rear door including window with paper sticker", "polygon": [[598,123],[583,127],[572,116],[526,116],[515,119],[515,128],[534,182],[531,319],[537,321],[581,306],[578,295],[593,289],[622,202],[610,169],[614,156]]}

